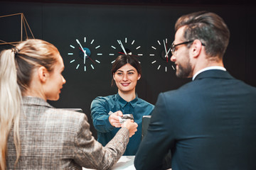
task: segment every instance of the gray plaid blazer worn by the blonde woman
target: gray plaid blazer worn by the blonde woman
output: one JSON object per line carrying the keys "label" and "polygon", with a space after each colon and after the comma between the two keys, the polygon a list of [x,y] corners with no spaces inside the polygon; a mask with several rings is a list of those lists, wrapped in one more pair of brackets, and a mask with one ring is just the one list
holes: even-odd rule
{"label": "gray plaid blazer worn by the blonde woman", "polygon": [[23,97],[19,135],[21,157],[16,161],[11,130],[7,169],[110,169],[124,153],[129,130],[121,128],[105,147],[92,137],[84,113],[50,106],[41,98]]}

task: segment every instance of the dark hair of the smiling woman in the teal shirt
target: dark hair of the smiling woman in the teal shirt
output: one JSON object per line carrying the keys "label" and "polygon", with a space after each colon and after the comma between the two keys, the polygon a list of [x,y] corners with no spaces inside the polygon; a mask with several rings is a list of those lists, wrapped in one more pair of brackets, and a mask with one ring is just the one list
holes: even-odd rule
{"label": "dark hair of the smiling woman in the teal shirt", "polygon": [[[138,74],[142,75],[142,67],[139,64],[139,60],[132,55],[119,55],[114,61],[111,69],[111,74],[113,75],[117,72],[117,69],[123,67],[125,64],[130,64],[132,67],[137,69]],[[112,78],[111,86],[114,86],[114,79]]]}

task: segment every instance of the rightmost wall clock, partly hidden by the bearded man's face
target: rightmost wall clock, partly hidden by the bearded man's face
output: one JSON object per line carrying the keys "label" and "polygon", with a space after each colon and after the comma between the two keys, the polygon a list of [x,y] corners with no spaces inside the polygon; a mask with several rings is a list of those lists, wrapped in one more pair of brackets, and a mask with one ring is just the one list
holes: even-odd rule
{"label": "rightmost wall clock, partly hidden by the bearded man's face", "polygon": [[149,58],[154,68],[164,70],[164,72],[171,72],[175,70],[171,62],[171,42],[167,38],[156,40],[149,49]]}

